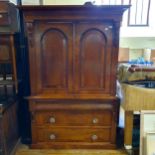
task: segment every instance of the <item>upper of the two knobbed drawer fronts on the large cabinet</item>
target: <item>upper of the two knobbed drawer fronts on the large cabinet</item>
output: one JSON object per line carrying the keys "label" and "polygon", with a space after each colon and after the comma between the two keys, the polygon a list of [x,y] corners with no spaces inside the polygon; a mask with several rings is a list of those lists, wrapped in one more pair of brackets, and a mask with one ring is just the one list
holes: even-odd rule
{"label": "upper of the two knobbed drawer fronts on the large cabinet", "polygon": [[111,126],[112,112],[106,110],[55,110],[35,113],[35,123],[51,126]]}

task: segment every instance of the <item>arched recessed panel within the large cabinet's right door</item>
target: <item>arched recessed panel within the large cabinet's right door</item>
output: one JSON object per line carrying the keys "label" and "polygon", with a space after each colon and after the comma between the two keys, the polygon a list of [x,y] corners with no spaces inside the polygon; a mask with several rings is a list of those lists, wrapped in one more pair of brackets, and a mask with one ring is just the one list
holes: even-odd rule
{"label": "arched recessed panel within the large cabinet's right door", "polygon": [[89,29],[80,38],[80,87],[104,88],[106,38],[97,29]]}

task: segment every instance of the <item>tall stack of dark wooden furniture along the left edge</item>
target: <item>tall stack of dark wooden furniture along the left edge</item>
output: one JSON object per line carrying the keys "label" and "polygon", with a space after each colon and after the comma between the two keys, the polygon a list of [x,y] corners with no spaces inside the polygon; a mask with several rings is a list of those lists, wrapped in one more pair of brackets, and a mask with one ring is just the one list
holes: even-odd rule
{"label": "tall stack of dark wooden furniture along the left edge", "polygon": [[[14,35],[17,9],[0,1],[0,154],[10,155],[18,139],[17,74]],[[13,16],[12,16],[13,15]]]}

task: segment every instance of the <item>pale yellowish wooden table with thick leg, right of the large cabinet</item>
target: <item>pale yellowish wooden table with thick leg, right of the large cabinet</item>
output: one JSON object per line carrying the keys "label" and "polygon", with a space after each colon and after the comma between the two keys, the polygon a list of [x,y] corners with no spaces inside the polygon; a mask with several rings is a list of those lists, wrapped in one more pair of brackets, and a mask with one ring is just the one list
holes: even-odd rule
{"label": "pale yellowish wooden table with thick leg, right of the large cabinet", "polygon": [[141,85],[139,84],[139,86],[138,84],[137,85],[121,84],[123,92],[122,107],[125,110],[124,145],[127,149],[132,148],[134,111],[155,110],[155,104],[154,104],[155,90],[152,89],[154,87],[142,88],[143,83],[144,82],[142,81]]}

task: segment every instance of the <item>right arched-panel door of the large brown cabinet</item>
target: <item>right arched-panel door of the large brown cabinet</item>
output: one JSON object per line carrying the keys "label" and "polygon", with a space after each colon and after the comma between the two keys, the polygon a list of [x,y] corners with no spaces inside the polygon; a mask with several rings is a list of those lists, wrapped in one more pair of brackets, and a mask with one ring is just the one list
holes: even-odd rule
{"label": "right arched-panel door of the large brown cabinet", "polygon": [[76,92],[110,93],[112,24],[77,24],[76,46]]}

